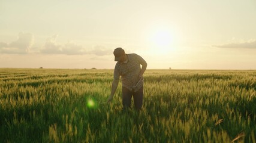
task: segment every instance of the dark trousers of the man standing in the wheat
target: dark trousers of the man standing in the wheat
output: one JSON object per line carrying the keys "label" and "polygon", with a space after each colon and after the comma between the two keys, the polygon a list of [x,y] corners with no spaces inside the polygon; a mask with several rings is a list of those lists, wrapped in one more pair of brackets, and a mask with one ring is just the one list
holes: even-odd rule
{"label": "dark trousers of the man standing in the wheat", "polygon": [[131,107],[131,97],[133,96],[133,101],[134,101],[134,107],[137,110],[140,110],[142,107],[142,101],[143,101],[143,86],[137,91],[134,92],[129,91],[129,89],[122,87],[122,92],[123,92],[123,107],[125,108],[130,108]]}

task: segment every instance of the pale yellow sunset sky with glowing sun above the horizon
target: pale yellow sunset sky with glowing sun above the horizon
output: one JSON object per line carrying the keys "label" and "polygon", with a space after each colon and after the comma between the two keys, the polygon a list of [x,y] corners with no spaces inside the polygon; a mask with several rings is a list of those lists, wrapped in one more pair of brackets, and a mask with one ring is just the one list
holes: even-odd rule
{"label": "pale yellow sunset sky with glowing sun above the horizon", "polygon": [[0,0],[0,68],[256,69],[255,0]]}

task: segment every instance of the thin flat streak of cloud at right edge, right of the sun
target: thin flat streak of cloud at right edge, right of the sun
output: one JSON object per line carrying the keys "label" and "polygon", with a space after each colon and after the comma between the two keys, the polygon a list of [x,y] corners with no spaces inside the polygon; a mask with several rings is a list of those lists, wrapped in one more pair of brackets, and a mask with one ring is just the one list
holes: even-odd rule
{"label": "thin flat streak of cloud at right edge, right of the sun", "polygon": [[242,42],[231,42],[231,43],[224,43],[222,45],[213,45],[218,48],[255,48],[256,49],[256,40],[250,41],[242,41]]}

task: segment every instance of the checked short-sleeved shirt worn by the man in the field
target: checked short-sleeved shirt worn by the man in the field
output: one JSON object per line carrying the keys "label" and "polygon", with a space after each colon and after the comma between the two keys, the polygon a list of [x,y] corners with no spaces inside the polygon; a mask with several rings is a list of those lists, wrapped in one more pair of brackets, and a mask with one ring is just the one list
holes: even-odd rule
{"label": "checked short-sleeved shirt worn by the man in the field", "polygon": [[140,64],[143,66],[146,61],[137,54],[127,54],[128,62],[116,63],[114,70],[114,79],[119,80],[119,77],[122,76],[122,86],[134,92],[137,92],[143,86],[143,78],[140,79]]}

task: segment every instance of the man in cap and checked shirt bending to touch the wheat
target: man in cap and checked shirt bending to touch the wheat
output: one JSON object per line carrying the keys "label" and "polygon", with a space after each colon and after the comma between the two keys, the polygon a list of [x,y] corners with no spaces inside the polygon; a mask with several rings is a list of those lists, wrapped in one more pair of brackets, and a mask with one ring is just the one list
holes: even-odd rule
{"label": "man in cap and checked shirt bending to touch the wheat", "polygon": [[[115,61],[118,61],[114,70],[112,90],[107,102],[113,100],[119,77],[122,77],[122,104],[124,109],[131,107],[131,97],[137,110],[142,107],[143,101],[143,73],[147,68],[146,61],[137,54],[125,54],[124,49],[116,48]],[[142,65],[140,69],[140,65]]]}

